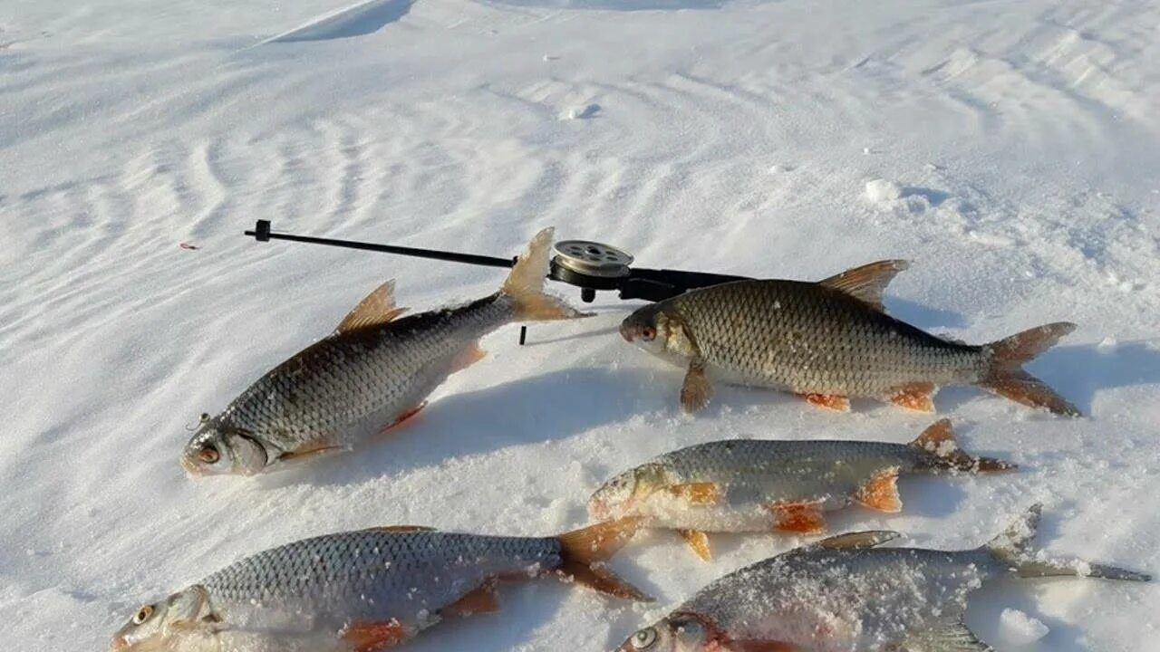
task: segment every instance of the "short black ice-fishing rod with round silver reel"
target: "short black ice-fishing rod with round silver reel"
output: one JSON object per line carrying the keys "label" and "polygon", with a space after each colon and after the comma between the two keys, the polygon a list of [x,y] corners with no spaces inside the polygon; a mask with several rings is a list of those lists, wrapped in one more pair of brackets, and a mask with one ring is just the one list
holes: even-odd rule
{"label": "short black ice-fishing rod with round silver reel", "polygon": [[[246,236],[253,237],[259,242],[289,240],[292,242],[327,245],[485,267],[510,268],[516,261],[514,256],[498,258],[440,249],[400,247],[377,242],[361,242],[357,240],[336,240],[333,238],[316,238],[293,233],[277,233],[270,231],[270,222],[268,219],[259,219],[252,231],[246,231]],[[595,300],[597,291],[612,290],[619,294],[621,299],[659,302],[695,288],[746,278],[745,276],[687,271],[682,269],[633,268],[633,260],[632,254],[603,242],[560,240],[552,247],[552,259],[548,277],[552,281],[580,288],[580,300],[585,303]]]}

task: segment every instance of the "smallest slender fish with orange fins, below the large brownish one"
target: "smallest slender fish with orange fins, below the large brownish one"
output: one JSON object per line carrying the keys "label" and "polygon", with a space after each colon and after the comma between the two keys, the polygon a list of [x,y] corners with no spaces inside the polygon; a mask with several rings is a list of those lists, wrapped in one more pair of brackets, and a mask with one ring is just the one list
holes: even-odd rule
{"label": "smallest slender fish with orange fins, below the large brownish one", "polygon": [[909,444],[803,440],[726,440],[655,457],[604,483],[588,501],[595,520],[638,517],[645,528],[677,530],[702,559],[706,533],[826,530],[825,513],[851,504],[898,513],[898,478],[907,473],[979,473],[1016,469],[974,457],[949,419]]}

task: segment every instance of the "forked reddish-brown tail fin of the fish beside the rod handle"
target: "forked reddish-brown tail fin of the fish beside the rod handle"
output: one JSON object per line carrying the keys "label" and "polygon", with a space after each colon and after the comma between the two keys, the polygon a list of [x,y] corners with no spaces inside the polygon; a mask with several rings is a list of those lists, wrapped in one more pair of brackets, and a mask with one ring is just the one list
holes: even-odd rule
{"label": "forked reddish-brown tail fin of the fish beside the rod handle", "polygon": [[1022,369],[1023,364],[1074,329],[1074,324],[1059,321],[984,345],[984,350],[991,354],[991,369],[978,385],[1015,403],[1042,407],[1056,414],[1082,416],[1078,407]]}

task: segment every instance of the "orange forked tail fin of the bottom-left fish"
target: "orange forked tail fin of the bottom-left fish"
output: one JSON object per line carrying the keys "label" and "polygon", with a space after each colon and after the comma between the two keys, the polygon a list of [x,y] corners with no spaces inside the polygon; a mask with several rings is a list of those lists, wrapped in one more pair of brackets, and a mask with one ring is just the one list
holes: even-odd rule
{"label": "orange forked tail fin of the bottom-left fish", "polygon": [[639,519],[621,519],[560,535],[558,572],[608,595],[651,602],[651,597],[614,575],[603,564],[637,534],[639,522]]}

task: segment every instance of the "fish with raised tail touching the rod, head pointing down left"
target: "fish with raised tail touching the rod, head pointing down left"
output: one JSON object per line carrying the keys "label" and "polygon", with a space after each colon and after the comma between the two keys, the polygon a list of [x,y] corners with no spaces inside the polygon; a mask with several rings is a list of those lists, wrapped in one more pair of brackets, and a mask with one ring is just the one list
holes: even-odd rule
{"label": "fish with raised tail touching the rod, head pointing down left", "polygon": [[537,233],[487,297],[400,317],[394,281],[358,303],[328,336],[278,364],[181,452],[190,477],[253,476],[348,451],[413,418],[451,374],[485,356],[479,339],[512,321],[589,317],[544,294],[552,230]]}

